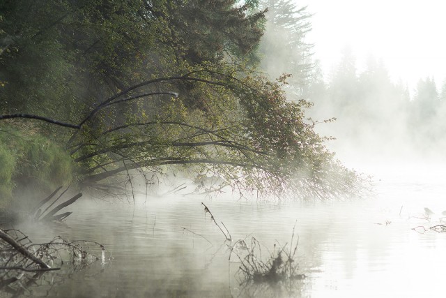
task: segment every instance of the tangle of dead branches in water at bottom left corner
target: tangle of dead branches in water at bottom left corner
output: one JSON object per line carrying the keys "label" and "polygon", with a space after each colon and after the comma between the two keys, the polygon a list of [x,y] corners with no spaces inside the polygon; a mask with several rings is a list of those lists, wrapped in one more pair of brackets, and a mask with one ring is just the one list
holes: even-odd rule
{"label": "tangle of dead branches in water at bottom left corner", "polygon": [[53,285],[58,279],[66,278],[67,271],[47,271],[57,271],[65,266],[70,268],[68,271],[75,272],[89,267],[100,260],[92,253],[99,249],[105,264],[105,248],[95,241],[68,242],[55,237],[44,244],[33,244],[20,230],[0,230],[0,297],[6,293],[19,297],[29,292],[28,288],[45,285],[45,274],[51,274],[49,279]]}

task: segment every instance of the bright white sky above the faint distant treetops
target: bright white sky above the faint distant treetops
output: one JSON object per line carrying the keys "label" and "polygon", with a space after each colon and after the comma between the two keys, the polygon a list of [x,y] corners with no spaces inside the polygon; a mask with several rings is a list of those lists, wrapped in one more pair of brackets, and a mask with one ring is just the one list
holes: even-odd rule
{"label": "bright white sky above the faint distant treetops", "polygon": [[433,76],[440,88],[446,78],[446,1],[442,0],[295,0],[314,13],[308,41],[329,73],[341,50],[351,47],[360,70],[373,54],[383,59],[392,79],[413,91]]}

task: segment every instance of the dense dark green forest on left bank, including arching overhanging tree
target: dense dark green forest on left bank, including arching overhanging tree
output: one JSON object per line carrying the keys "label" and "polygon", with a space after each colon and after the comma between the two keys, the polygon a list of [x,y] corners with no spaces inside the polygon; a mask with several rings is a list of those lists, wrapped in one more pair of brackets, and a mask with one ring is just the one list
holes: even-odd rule
{"label": "dense dark green forest on left bank, including arching overhanging tree", "polygon": [[2,1],[1,206],[169,171],[268,195],[354,192],[305,114],[309,17],[286,0]]}

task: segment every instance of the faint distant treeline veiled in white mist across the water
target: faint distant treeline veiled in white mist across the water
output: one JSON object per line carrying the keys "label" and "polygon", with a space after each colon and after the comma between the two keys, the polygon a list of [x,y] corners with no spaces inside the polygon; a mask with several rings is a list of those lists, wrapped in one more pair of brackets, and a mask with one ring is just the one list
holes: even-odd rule
{"label": "faint distant treeline veiled in white mist across the water", "polygon": [[357,73],[350,52],[328,79],[316,77],[306,91],[314,103],[309,115],[336,118],[316,131],[336,138],[328,147],[342,158],[444,162],[445,84],[438,91],[432,77],[422,78],[410,96],[404,84],[392,82],[382,61],[371,57]]}

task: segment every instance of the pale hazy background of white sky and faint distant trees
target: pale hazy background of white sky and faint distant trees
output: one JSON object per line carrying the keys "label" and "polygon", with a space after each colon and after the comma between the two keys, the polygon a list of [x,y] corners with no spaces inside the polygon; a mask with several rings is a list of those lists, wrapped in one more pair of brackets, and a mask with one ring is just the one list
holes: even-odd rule
{"label": "pale hazy background of white sky and faint distant trees", "polygon": [[[432,161],[446,147],[446,19],[442,1],[294,1],[307,6],[316,61],[316,131],[346,162]],[[293,73],[293,72],[291,72]],[[294,73],[293,73],[294,75]]]}

